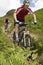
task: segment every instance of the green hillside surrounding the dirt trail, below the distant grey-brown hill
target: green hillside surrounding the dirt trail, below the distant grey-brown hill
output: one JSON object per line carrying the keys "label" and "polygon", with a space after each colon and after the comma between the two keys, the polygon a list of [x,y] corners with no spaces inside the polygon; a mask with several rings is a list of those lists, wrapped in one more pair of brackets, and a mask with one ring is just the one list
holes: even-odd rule
{"label": "green hillside surrounding the dirt trail, below the distant grey-brown hill", "polygon": [[[30,50],[29,47],[24,48],[15,45],[10,38],[3,33],[1,27],[4,25],[4,17],[0,18],[0,65],[43,65],[43,9],[35,12],[37,16],[37,25],[27,26],[31,34],[35,35],[32,37],[32,43],[35,44],[35,48]],[[9,14],[10,21],[13,17]],[[26,22],[33,21],[31,15],[27,15]],[[13,23],[12,23],[13,25]],[[13,30],[13,26],[10,27],[10,32]],[[33,52],[33,59],[28,57]]]}

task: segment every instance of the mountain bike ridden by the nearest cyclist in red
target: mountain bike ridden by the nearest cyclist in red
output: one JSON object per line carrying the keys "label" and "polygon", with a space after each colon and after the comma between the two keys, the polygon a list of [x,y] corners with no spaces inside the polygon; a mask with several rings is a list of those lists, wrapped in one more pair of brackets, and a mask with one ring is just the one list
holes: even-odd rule
{"label": "mountain bike ridden by the nearest cyclist in red", "polygon": [[19,42],[16,42],[16,36],[15,36],[15,32],[13,34],[13,42],[16,44],[22,44],[24,47],[30,47],[32,44],[32,38],[31,35],[29,33],[29,31],[27,30],[27,25],[29,25],[28,23],[23,23],[23,24],[19,24]]}

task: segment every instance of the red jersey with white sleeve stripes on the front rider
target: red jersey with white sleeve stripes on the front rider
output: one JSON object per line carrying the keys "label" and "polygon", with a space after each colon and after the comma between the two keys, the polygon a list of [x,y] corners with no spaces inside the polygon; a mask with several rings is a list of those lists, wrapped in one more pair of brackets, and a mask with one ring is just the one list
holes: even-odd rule
{"label": "red jersey with white sleeve stripes on the front rider", "polygon": [[34,12],[30,8],[25,9],[24,5],[22,5],[16,10],[16,17],[19,21],[24,21],[25,16],[28,13],[31,13],[33,15]]}

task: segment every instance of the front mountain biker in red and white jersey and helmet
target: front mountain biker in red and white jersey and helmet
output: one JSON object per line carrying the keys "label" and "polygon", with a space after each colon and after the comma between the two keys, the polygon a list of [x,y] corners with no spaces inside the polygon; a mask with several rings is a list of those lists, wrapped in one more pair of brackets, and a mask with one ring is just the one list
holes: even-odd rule
{"label": "front mountain biker in red and white jersey and helmet", "polygon": [[14,12],[16,41],[19,41],[19,38],[18,38],[19,23],[25,22],[25,16],[28,13],[32,14],[32,16],[34,18],[34,24],[37,23],[36,16],[35,16],[34,12],[31,10],[31,8],[29,8],[29,5],[30,5],[29,0],[24,0],[23,5],[19,8],[17,8],[17,10],[15,10],[15,12]]}

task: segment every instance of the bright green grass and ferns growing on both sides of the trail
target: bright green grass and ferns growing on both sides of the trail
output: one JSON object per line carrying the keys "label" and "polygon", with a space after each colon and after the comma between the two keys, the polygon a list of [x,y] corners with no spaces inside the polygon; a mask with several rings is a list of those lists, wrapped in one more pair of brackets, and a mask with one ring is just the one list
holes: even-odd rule
{"label": "bright green grass and ferns growing on both sides of the trail", "polygon": [[[37,25],[29,25],[28,30],[34,34],[39,35],[39,40],[35,41],[33,40],[33,43],[37,43],[37,49],[33,50],[33,52],[36,52],[35,56],[37,56],[38,53],[43,52],[43,9],[36,12],[37,16]],[[30,18],[28,18],[30,17]],[[11,16],[9,16],[10,20],[12,19]],[[31,15],[26,17],[26,22],[28,20],[32,20]],[[3,25],[3,18],[0,18],[0,27]],[[27,57],[31,53],[29,48],[24,50],[12,44],[10,41],[8,41],[7,36],[2,32],[0,28],[0,65],[36,65],[37,60],[27,62]],[[43,57],[43,56],[42,56]]]}

